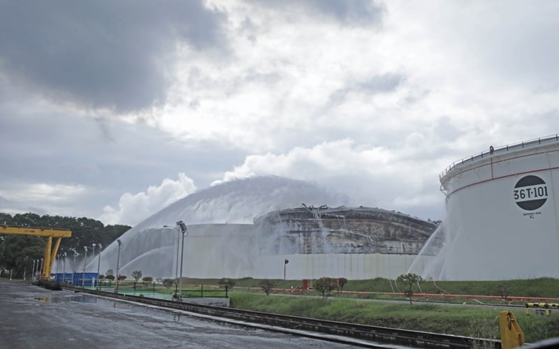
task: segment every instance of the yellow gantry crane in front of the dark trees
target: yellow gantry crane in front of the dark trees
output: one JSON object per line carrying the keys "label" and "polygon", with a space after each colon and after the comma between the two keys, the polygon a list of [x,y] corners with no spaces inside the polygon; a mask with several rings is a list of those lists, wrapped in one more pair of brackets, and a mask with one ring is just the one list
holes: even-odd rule
{"label": "yellow gantry crane in front of the dark trees", "polygon": [[[47,243],[45,245],[45,257],[43,260],[43,273],[41,279],[50,278],[50,270],[52,264],[55,262],[55,257],[63,237],[71,237],[71,230],[62,229],[48,229],[48,228],[29,228],[29,227],[12,227],[8,225],[0,225],[0,235],[31,235],[35,237],[46,237]],[[55,246],[52,246],[52,238],[56,237]]]}

